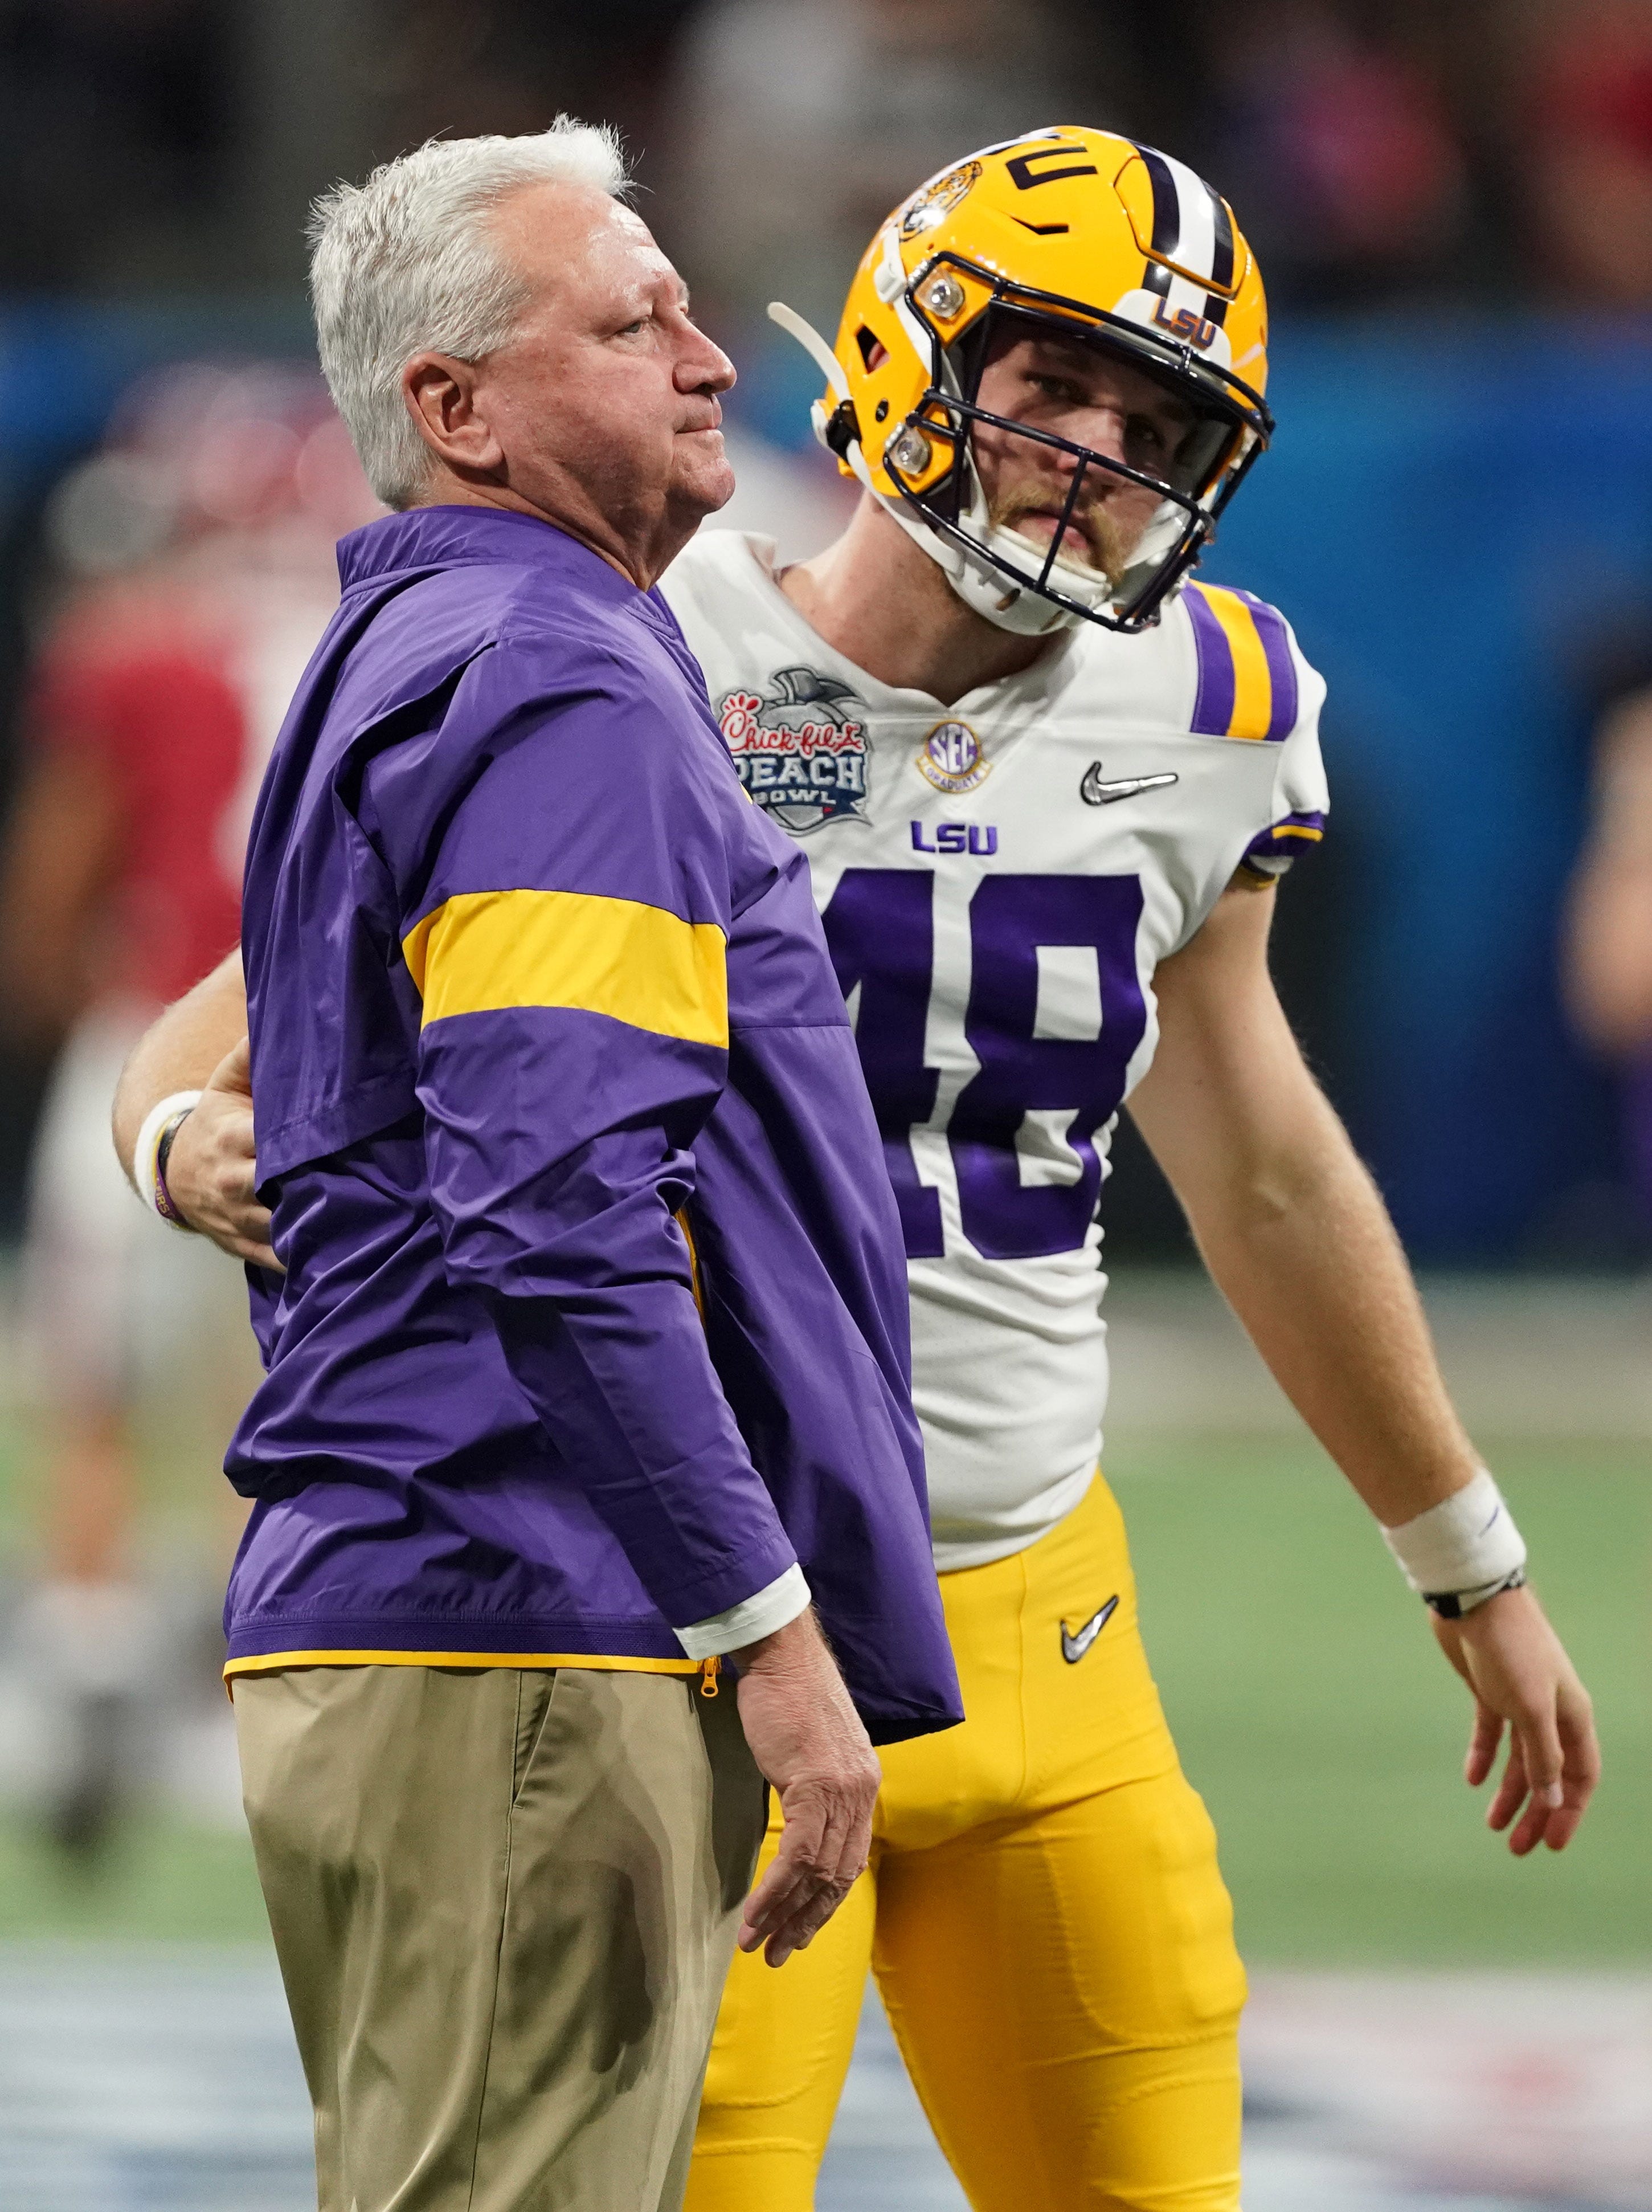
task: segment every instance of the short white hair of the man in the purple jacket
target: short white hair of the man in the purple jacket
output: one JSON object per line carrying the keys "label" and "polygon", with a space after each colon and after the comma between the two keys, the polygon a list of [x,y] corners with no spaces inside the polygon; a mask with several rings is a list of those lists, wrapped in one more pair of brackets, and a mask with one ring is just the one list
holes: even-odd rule
{"label": "short white hair of the man in the purple jacket", "polygon": [[327,389],[385,507],[411,507],[429,449],[402,400],[414,354],[475,361],[504,345],[529,292],[489,237],[529,184],[630,190],[615,131],[557,115],[531,137],[431,139],[310,212],[310,296]]}

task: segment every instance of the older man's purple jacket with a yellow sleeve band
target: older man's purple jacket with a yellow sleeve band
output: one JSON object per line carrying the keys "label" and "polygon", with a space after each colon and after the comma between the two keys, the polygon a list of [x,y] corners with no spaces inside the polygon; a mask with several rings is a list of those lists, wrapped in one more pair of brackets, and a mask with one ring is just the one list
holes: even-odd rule
{"label": "older man's purple jacket with a yellow sleeve band", "polygon": [[876,1741],[960,1717],[878,1128],[668,608],[529,515],[338,549],[252,823],[268,1376],[234,1666],[690,1670],[801,1559]]}

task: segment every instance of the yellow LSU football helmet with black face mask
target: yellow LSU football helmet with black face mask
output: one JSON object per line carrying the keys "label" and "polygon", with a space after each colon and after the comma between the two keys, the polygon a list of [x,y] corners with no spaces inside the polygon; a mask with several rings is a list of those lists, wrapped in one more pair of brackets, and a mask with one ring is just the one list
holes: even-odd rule
{"label": "yellow LSU football helmet with black face mask", "polygon": [[[920,186],[867,248],[836,352],[790,307],[770,314],[827,376],[814,422],[843,471],[1006,630],[1157,622],[1274,429],[1267,299],[1227,204],[1110,131],[1031,131]],[[1017,334],[1079,338],[1168,387],[1188,414],[1174,451],[1141,469],[991,414],[982,369]],[[986,425],[1070,460],[1048,544],[993,518],[973,453]],[[1159,493],[1117,573],[1064,553],[1092,471]]]}

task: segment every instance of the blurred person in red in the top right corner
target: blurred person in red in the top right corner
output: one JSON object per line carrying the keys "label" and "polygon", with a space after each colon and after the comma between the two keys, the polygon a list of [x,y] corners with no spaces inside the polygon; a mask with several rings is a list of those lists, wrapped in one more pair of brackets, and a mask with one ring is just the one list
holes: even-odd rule
{"label": "blurred person in red in the top right corner", "polygon": [[1566,292],[1652,305],[1652,4],[1530,9],[1522,49],[1526,177]]}

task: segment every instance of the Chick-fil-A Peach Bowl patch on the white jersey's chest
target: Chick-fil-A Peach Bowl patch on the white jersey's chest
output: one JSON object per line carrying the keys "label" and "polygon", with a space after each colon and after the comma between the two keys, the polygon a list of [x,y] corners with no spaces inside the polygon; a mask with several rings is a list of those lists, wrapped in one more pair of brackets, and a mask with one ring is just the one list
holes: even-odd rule
{"label": "Chick-fil-A Peach Bowl patch on the white jersey's chest", "polygon": [[792,836],[867,821],[865,701],[818,668],[781,668],[765,692],[717,701],[717,723],[750,796]]}

